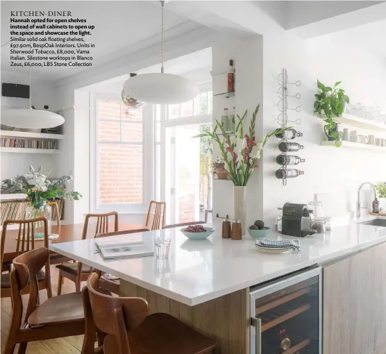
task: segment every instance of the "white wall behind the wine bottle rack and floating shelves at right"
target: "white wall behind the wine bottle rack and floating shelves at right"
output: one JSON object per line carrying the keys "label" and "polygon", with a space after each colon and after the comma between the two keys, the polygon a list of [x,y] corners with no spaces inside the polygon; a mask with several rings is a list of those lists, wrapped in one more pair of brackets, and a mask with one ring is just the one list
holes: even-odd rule
{"label": "white wall behind the wine bottle rack and floating shelves at right", "polygon": [[[278,33],[276,38],[265,37],[265,130],[274,130],[278,126],[276,117],[280,112],[275,107],[278,98],[273,90],[274,87],[277,90],[278,85],[274,75],[277,76],[281,67],[285,66],[289,81],[301,80],[301,87],[290,86],[290,94],[301,92],[302,97],[299,100],[290,99],[289,106],[301,106],[302,111],[289,111],[289,117],[302,120],[301,125],[295,125],[294,128],[303,133],[303,137],[296,141],[305,146],[299,151],[299,157],[305,158],[305,163],[298,165],[305,174],[289,180],[286,187],[274,177],[274,171],[278,168],[275,162],[279,152],[277,141],[272,141],[265,149],[263,204],[265,221],[269,224],[274,224],[276,208],[287,201],[307,203],[317,193],[348,192],[353,196],[362,181],[386,179],[386,149],[384,153],[378,153],[320,146],[321,140],[326,139],[323,124],[312,116],[317,78],[328,85],[342,81],[342,87],[353,102],[365,106],[383,106],[384,109],[386,106],[385,62],[358,46],[334,42],[333,38],[333,35],[326,35],[303,41],[284,33]],[[360,130],[356,130],[359,133]],[[342,194],[332,194],[331,198],[335,198],[336,203],[346,202],[341,200]],[[352,197],[349,197],[348,205],[344,203],[342,212],[355,210]]]}

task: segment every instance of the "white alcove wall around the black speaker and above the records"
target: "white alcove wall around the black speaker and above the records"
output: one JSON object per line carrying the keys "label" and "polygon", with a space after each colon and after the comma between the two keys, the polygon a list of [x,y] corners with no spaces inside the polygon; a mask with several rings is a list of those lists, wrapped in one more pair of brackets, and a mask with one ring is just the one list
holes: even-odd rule
{"label": "white alcove wall around the black speaker and above the records", "polygon": [[[18,83],[28,85],[28,76],[15,75],[1,72],[1,83]],[[49,110],[58,108],[58,98],[49,81],[31,78],[31,104],[37,109],[44,109],[45,105]],[[10,108],[28,108],[28,99],[17,99],[14,97],[1,97],[1,112]],[[60,143],[59,143],[60,144]],[[38,167],[42,165],[44,171],[50,176],[56,177],[58,174],[58,162],[56,155],[45,155],[35,153],[1,153],[1,180],[12,178],[18,174],[26,174],[29,165]]]}

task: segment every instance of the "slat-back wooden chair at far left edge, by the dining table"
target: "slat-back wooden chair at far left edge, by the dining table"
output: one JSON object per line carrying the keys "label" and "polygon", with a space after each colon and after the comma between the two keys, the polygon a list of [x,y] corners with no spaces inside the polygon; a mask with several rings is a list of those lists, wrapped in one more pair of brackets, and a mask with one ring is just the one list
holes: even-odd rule
{"label": "slat-back wooden chair at far left edge, by the dining table", "polygon": [[[35,240],[35,228],[34,224],[37,222],[42,222],[44,225],[43,233],[44,238],[42,241]],[[45,217],[39,217],[37,219],[24,219],[24,220],[6,220],[3,224],[3,230],[1,231],[1,244],[0,244],[0,254],[1,254],[1,269],[8,267],[10,271],[11,263],[5,264],[4,262],[4,246],[6,244],[6,233],[7,227],[9,224],[19,224],[19,231],[17,233],[17,243],[15,249],[15,256],[21,255],[22,253],[33,250],[37,244],[43,243],[43,246],[48,248],[49,246],[49,235],[48,235],[48,222]],[[39,290],[47,289],[47,297],[52,297],[52,288],[51,288],[51,271],[49,267],[49,262],[45,264],[45,271],[39,271],[37,273],[37,283],[39,285]],[[30,291],[29,285],[27,284],[22,289],[22,294],[28,294]],[[10,284],[10,273],[1,273],[1,298],[11,297],[11,284]]]}

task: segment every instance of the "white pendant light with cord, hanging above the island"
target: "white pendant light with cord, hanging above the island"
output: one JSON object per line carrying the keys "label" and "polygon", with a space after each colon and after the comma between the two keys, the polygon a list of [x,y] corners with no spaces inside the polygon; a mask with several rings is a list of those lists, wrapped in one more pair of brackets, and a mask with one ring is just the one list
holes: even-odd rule
{"label": "white pendant light with cord, hanging above the island", "polygon": [[174,74],[164,74],[164,4],[161,21],[161,72],[140,74],[124,83],[124,95],[154,104],[176,104],[194,99],[199,89],[192,81]]}

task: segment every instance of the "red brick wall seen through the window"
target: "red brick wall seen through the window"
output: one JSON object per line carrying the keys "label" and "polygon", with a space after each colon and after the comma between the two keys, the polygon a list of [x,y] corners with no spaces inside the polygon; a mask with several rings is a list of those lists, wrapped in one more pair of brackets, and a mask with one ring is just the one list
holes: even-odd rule
{"label": "red brick wall seen through the window", "polygon": [[142,203],[142,109],[98,99],[97,117],[99,203]]}

